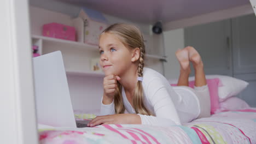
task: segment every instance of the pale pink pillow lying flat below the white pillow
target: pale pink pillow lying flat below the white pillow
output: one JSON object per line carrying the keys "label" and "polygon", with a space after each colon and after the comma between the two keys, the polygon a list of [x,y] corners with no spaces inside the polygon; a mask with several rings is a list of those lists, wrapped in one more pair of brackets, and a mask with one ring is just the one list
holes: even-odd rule
{"label": "pale pink pillow lying flat below the white pillow", "polygon": [[219,109],[216,110],[216,113],[222,111],[248,109],[249,107],[250,106],[246,103],[245,100],[233,96],[219,103]]}

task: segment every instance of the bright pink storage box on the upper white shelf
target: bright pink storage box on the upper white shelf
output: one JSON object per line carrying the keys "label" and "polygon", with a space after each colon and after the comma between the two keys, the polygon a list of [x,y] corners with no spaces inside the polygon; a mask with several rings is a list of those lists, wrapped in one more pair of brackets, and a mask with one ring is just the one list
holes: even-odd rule
{"label": "bright pink storage box on the upper white shelf", "polygon": [[45,24],[43,26],[43,36],[76,41],[75,28],[60,23]]}

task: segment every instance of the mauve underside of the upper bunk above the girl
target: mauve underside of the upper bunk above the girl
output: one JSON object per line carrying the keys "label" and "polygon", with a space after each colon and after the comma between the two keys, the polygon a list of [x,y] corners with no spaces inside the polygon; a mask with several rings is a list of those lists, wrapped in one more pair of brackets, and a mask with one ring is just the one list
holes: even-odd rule
{"label": "mauve underside of the upper bunk above the girl", "polygon": [[169,22],[248,4],[249,0],[59,0],[132,21]]}

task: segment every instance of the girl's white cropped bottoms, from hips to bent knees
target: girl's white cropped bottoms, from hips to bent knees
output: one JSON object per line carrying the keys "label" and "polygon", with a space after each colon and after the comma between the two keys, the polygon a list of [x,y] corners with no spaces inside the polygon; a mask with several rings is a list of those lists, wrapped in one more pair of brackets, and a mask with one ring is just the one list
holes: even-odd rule
{"label": "girl's white cropped bottoms, from hips to bent knees", "polygon": [[194,89],[187,86],[177,86],[173,89],[179,95],[176,109],[181,123],[211,116],[210,92],[207,85],[194,87]]}

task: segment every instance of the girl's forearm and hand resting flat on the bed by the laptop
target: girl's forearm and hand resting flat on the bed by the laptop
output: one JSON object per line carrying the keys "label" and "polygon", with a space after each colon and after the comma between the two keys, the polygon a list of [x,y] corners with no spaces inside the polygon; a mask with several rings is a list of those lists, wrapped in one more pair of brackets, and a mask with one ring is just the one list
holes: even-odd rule
{"label": "girl's forearm and hand resting flat on the bed by the laptop", "polygon": [[141,124],[141,117],[133,113],[97,116],[87,125],[94,127],[99,124]]}

